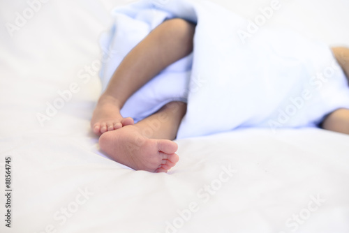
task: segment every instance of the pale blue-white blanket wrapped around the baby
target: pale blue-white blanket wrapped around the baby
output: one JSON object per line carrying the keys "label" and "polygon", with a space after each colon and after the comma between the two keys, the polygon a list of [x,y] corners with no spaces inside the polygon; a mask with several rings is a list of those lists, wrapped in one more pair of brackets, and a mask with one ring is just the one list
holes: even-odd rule
{"label": "pale blue-white blanket wrapped around the baby", "polygon": [[329,112],[349,107],[348,81],[324,43],[288,30],[258,30],[279,8],[265,8],[255,22],[209,1],[145,0],[118,8],[102,40],[111,59],[102,71],[103,85],[149,31],[181,17],[198,22],[193,54],[135,93],[121,111],[125,117],[138,121],[165,103],[188,98],[178,138],[238,127],[317,126]]}

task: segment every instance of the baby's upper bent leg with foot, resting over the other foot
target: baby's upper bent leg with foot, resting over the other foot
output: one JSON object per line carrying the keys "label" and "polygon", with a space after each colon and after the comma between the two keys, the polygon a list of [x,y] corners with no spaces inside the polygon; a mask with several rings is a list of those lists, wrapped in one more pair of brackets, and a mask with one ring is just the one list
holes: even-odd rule
{"label": "baby's upper bent leg with foot, resting over the other foot", "polygon": [[94,133],[101,135],[133,124],[133,119],[121,117],[121,107],[161,70],[191,53],[194,31],[195,25],[185,20],[168,20],[131,50],[98,100],[91,119]]}

